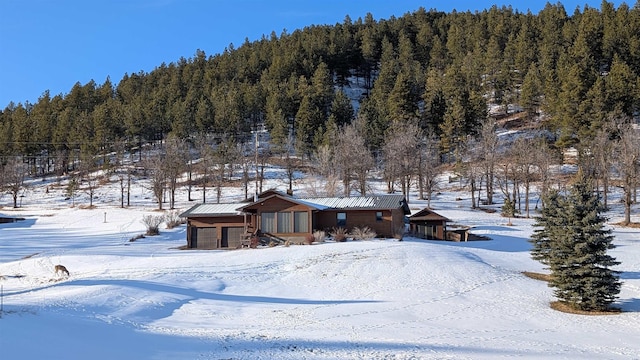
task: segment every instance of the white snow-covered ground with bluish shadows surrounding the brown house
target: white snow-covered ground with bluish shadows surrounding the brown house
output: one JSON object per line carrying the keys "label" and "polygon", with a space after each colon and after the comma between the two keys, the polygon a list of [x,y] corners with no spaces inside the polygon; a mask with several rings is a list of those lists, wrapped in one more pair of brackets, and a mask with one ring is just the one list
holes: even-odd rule
{"label": "white snow-covered ground with bluish shadows surrounding the brown house", "polygon": [[0,214],[25,218],[0,224],[1,359],[640,359],[640,229],[615,227],[623,312],[584,316],[550,309],[552,289],[521,274],[544,271],[528,253],[533,220],[507,226],[469,210],[467,193],[432,206],[492,240],[232,251],[177,249],[184,226],[130,242],[158,214],[141,184],[128,209],[115,184],[94,209],[63,194],[42,182],[22,208],[0,198]]}

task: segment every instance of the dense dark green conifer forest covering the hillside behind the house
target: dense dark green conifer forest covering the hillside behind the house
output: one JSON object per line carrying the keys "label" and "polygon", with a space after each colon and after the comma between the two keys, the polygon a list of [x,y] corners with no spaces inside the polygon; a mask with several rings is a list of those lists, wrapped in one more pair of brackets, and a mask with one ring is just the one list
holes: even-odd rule
{"label": "dense dark green conifer forest covering the hillside behind the house", "polygon": [[[197,50],[117,83],[76,83],[66,94],[45,91],[34,104],[10,103],[0,111],[0,159],[5,177],[16,158],[32,175],[62,174],[79,170],[81,160],[104,167],[117,159],[106,154],[170,140],[202,158],[213,152],[212,164],[228,164],[231,150],[266,128],[271,154],[285,162],[314,159],[318,172],[342,179],[347,195],[351,181],[365,193],[367,171],[383,167],[390,190],[400,184],[406,191],[419,178],[428,196],[428,169],[445,163],[460,166],[472,195],[484,182],[491,202],[501,184],[494,179],[492,133],[506,119],[546,134],[514,144],[511,159],[533,147],[552,161],[559,150],[576,147],[590,154],[580,161],[606,187],[610,168],[599,164],[624,144],[623,127],[638,117],[639,75],[638,2],[575,10],[547,3],[537,14],[492,7],[420,8],[380,20],[347,16],[229,45],[214,56]],[[364,89],[355,101],[347,95],[353,88]],[[347,145],[351,150],[338,148]],[[596,149],[603,150],[600,158]],[[630,161],[637,168],[637,159]],[[629,173],[631,191],[637,169],[627,165],[616,174],[626,181]],[[207,171],[215,170],[203,170],[205,185]],[[528,191],[530,178],[513,172],[523,184],[518,191]],[[549,185],[544,173],[536,176]],[[515,189],[507,184],[503,192],[515,197]]]}

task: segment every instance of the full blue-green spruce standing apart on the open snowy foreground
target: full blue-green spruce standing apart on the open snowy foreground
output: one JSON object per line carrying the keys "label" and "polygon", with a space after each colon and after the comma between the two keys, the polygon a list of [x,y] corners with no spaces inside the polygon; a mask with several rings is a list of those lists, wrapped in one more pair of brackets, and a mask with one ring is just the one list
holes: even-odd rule
{"label": "full blue-green spruce standing apart on the open snowy foreground", "polygon": [[607,310],[620,292],[611,267],[619,264],[607,254],[614,248],[599,196],[581,178],[566,196],[548,199],[533,238],[532,257],[549,266],[554,295],[574,309]]}

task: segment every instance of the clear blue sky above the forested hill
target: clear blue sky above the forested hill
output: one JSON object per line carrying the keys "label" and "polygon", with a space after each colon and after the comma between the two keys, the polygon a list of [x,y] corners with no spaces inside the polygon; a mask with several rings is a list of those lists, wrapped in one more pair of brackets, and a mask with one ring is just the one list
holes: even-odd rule
{"label": "clear blue sky above the forested hill", "polygon": [[[556,3],[555,1],[551,1]],[[312,24],[402,16],[419,7],[476,11],[513,4],[538,13],[545,1],[414,0],[0,0],[0,108],[34,103],[45,90],[66,94],[76,83],[149,72],[161,63],[215,55],[245,38]],[[562,1],[569,14],[601,1]],[[616,7],[619,1],[614,1]]]}

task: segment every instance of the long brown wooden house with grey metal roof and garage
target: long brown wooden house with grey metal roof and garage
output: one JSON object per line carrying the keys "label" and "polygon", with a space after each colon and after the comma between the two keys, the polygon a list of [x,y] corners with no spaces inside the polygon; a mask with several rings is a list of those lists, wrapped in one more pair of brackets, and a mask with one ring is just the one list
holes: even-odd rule
{"label": "long brown wooden house with grey metal roof and garage", "polygon": [[368,226],[393,237],[410,214],[403,195],[296,198],[270,190],[251,202],[195,205],[187,219],[187,247],[238,248],[254,234],[276,241],[301,242],[315,230]]}

